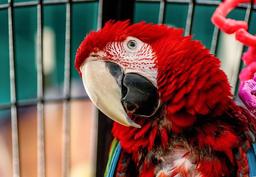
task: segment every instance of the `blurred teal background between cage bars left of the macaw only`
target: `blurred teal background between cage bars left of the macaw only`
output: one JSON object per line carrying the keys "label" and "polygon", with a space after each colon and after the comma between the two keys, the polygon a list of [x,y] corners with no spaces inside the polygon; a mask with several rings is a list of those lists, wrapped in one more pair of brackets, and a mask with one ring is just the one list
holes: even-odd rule
{"label": "blurred teal background between cage bars left of the macaw only", "polygon": [[[3,3],[3,0],[0,1]],[[14,1],[14,2],[22,2]],[[96,29],[97,2],[74,4],[72,8],[72,79],[79,78],[73,67],[76,49],[90,30]],[[54,68],[45,75],[46,90],[53,85],[58,90],[55,96],[62,96],[64,80],[65,55],[65,5],[48,5],[43,8],[44,27],[50,29],[55,51],[51,60]],[[0,10],[0,82],[4,83],[0,91],[0,103],[10,102],[10,74],[8,53],[8,11]],[[16,91],[17,100],[37,97],[37,70],[36,70],[36,34],[37,34],[37,7],[14,9],[14,36],[16,56]],[[49,30],[48,30],[49,31]],[[45,34],[49,36],[48,34]],[[45,51],[47,53],[47,51]],[[49,54],[49,53],[48,53]],[[48,55],[47,55],[48,56]],[[47,59],[47,58],[46,58]],[[48,59],[49,60],[49,59]],[[51,66],[46,66],[51,67]],[[45,68],[46,69],[46,68]]]}

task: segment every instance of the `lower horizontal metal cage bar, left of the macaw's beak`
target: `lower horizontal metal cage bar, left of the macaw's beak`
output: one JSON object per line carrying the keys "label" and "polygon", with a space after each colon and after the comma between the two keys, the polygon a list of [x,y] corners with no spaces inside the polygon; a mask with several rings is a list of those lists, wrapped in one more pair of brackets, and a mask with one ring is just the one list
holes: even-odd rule
{"label": "lower horizontal metal cage bar, left of the macaw's beak", "polygon": [[[61,98],[56,98],[56,99],[44,99],[44,100],[27,99],[27,100],[18,101],[16,103],[16,105],[17,105],[17,107],[27,107],[27,106],[37,105],[37,103],[41,102],[41,101],[43,103],[54,103],[54,102],[62,102],[65,100],[82,100],[82,99],[87,100],[87,99],[89,99],[89,97],[88,96],[78,96],[78,97],[70,97],[70,99],[61,97]],[[2,104],[0,104],[0,110],[10,109],[12,105],[13,104],[11,104],[11,103],[2,103]]]}

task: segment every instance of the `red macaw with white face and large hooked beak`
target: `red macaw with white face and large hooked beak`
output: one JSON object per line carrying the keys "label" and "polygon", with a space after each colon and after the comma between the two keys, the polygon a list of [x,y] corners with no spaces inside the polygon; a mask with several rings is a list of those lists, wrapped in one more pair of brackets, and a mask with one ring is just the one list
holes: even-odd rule
{"label": "red macaw with white face and large hooked beak", "polygon": [[256,118],[234,102],[220,60],[183,32],[110,20],[76,52],[89,98],[114,120],[113,176],[250,175]]}

